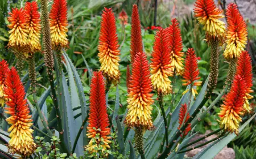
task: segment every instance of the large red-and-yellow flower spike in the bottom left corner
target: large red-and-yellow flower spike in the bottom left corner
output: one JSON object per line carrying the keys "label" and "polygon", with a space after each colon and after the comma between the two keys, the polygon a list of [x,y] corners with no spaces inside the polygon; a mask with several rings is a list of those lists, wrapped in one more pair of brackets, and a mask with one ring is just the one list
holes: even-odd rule
{"label": "large red-and-yellow flower spike in the bottom left corner", "polygon": [[6,122],[11,124],[8,129],[11,140],[8,147],[11,153],[21,154],[23,156],[30,156],[34,153],[36,144],[32,138],[33,131],[32,119],[30,109],[28,108],[27,100],[25,100],[25,89],[20,81],[18,72],[15,68],[11,68],[9,75],[5,80],[5,98],[8,98],[6,105],[8,106],[5,111],[10,114]]}

